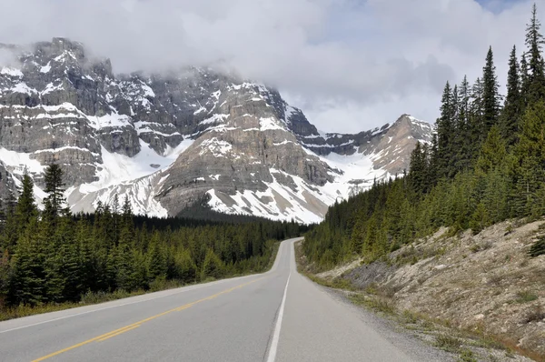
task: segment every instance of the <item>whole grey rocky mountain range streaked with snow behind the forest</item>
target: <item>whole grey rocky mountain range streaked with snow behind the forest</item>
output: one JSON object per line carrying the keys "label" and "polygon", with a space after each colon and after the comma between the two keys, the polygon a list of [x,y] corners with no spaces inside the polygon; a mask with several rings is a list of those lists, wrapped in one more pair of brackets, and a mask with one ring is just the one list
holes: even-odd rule
{"label": "whole grey rocky mountain range streaked with snow behind the forest", "polygon": [[[54,38],[0,45],[0,193],[25,167],[64,169],[74,212],[128,196],[134,211],[317,222],[327,206],[401,174],[431,125],[407,115],[357,135],[322,134],[278,91],[211,69],[114,75],[107,59]],[[4,186],[2,186],[4,185]]]}

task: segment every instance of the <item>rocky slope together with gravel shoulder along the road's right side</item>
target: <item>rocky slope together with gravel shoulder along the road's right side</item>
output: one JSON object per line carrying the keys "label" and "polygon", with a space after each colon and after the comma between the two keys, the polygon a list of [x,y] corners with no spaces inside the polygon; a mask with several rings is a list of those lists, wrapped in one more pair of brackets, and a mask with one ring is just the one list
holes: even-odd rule
{"label": "rocky slope together with gravel shoulder along the road's right side", "polygon": [[544,256],[527,255],[542,225],[502,223],[477,236],[441,229],[388,260],[320,274],[299,248],[297,259],[303,274],[417,359],[543,361]]}

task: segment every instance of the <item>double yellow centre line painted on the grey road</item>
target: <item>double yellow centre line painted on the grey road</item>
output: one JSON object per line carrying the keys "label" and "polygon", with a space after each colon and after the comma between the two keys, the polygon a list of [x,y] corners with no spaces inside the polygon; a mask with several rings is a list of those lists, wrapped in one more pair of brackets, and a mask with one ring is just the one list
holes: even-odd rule
{"label": "double yellow centre line painted on the grey road", "polygon": [[158,318],[158,317],[163,317],[164,315],[167,315],[169,313],[172,313],[172,312],[179,312],[179,311],[182,311],[183,309],[187,309],[187,308],[190,308],[190,307],[193,307],[194,305],[196,304],[199,304],[199,303],[202,303],[206,300],[212,300],[213,298],[216,298],[216,297],[219,297],[219,296],[222,296],[223,294],[227,294],[227,293],[231,293],[233,292],[233,290],[236,290],[236,289],[240,289],[242,287],[246,287],[246,286],[249,286],[257,281],[260,281],[264,279],[264,277],[260,277],[259,279],[255,279],[251,282],[248,282],[248,283],[244,283],[244,284],[241,284],[240,286],[237,286],[237,287],[232,287],[230,289],[225,289],[223,290],[222,292],[219,292],[217,294],[214,294],[213,296],[210,296],[210,297],[204,297],[203,299],[199,299],[199,300],[196,300],[194,302],[191,302],[191,303],[188,303],[188,304],[185,304],[181,307],[175,307],[173,309],[170,309],[170,310],[167,310],[166,312],[163,312],[163,313],[159,313],[158,315],[155,315],[155,316],[152,316],[152,317],[147,317],[145,319],[142,319],[138,322],[135,322],[131,325],[128,325],[128,326],[125,326],[125,327],[121,327],[121,328],[117,328],[111,332],[108,332],[108,333],[104,333],[104,335],[100,335],[100,336],[97,336],[97,337],[93,337],[91,339],[87,339],[85,340],[84,342],[80,342],[78,344],[75,344],[74,346],[70,346],[70,347],[66,347],[66,348],[63,348],[63,349],[60,349],[56,352],[53,352],[47,356],[44,356],[44,357],[40,357],[40,358],[37,358],[35,360],[33,360],[32,362],[41,362],[41,361],[44,361],[45,359],[48,359],[48,358],[51,358],[51,357],[54,357],[54,356],[58,356],[64,352],[67,352],[67,351],[70,351],[72,349],[75,349],[75,348],[78,348],[78,347],[82,347],[82,346],[85,346],[85,345],[88,345],[89,343],[91,342],[94,342],[94,341],[98,341],[98,342],[102,342],[108,338],[111,338],[111,337],[115,337],[115,336],[119,336],[121,334],[123,334],[124,332],[128,332],[130,330],[133,330],[134,328],[137,328],[137,327],[140,327],[143,323],[145,322],[149,322],[150,320],[153,320],[155,318]]}

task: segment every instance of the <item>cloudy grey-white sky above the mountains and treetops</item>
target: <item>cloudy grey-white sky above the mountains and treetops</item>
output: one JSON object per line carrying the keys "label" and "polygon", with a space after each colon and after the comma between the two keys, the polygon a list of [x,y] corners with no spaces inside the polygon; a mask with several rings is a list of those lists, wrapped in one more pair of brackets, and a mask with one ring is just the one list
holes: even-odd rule
{"label": "cloudy grey-white sky above the mountains and treetops", "polygon": [[115,72],[226,65],[278,87],[319,129],[358,132],[403,113],[434,122],[445,82],[481,75],[489,45],[503,85],[532,3],[2,0],[0,42],[69,37]]}

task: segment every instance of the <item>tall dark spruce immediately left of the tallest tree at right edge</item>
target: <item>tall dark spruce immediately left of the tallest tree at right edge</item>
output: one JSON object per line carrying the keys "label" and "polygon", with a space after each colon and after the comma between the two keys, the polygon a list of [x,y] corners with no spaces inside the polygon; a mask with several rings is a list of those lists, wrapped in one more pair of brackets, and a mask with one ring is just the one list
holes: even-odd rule
{"label": "tall dark spruce immediately left of the tallest tree at right edge", "polygon": [[519,135],[519,118],[522,101],[520,99],[520,69],[517,60],[517,48],[513,46],[507,75],[507,96],[500,117],[501,136],[507,146],[514,146]]}

